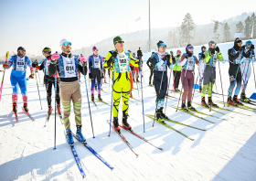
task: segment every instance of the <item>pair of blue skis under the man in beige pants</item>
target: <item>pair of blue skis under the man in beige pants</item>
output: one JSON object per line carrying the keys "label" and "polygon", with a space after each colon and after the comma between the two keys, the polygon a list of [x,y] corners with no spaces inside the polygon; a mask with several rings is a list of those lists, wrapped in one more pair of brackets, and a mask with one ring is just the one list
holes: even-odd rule
{"label": "pair of blue skis under the man in beige pants", "polygon": [[[67,138],[67,134],[65,133],[66,135],[66,138]],[[72,135],[80,142],[79,138],[77,137],[76,134],[72,133]],[[109,163],[107,163],[102,157],[100,154],[98,154],[96,151],[94,151],[91,146],[89,144],[87,144],[86,142],[80,142],[81,144],[83,144],[92,154],[94,154],[97,158],[99,158],[101,160],[101,162],[105,165],[107,165],[110,169],[113,169],[112,165],[109,165]],[[81,176],[84,178],[86,175],[83,171],[83,168],[82,168],[82,165],[80,163],[80,157],[79,155],[77,154],[77,151],[75,149],[75,146],[74,144],[69,144],[70,145],[70,148],[71,148],[71,151],[72,151],[72,154],[75,158],[75,161],[80,169],[80,174]]]}

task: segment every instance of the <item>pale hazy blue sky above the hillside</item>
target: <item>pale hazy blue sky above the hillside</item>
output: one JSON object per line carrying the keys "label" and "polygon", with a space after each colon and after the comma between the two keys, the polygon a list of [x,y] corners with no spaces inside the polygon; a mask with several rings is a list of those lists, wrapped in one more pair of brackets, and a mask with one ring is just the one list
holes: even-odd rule
{"label": "pale hazy blue sky above the hillside", "polygon": [[[213,16],[221,21],[255,6],[253,0],[151,0],[151,27],[179,26],[187,13],[197,25],[208,24]],[[1,0],[0,7],[0,57],[19,46],[36,54],[47,46],[60,50],[64,37],[76,49],[148,28],[148,0]]]}

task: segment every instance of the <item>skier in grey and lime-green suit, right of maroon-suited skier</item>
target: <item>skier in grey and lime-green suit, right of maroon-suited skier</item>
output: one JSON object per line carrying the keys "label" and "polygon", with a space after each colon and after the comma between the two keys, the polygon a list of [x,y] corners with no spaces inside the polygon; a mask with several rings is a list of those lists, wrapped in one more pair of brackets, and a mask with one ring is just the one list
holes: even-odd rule
{"label": "skier in grey and lime-green suit, right of maroon-suited skier", "polygon": [[[214,41],[208,42],[208,51],[205,51],[201,54],[201,62],[200,66],[205,66],[204,69],[204,82],[203,82],[203,89],[202,89],[202,105],[208,107],[208,104],[214,107],[218,107],[217,104],[213,103],[211,94],[212,94],[212,87],[216,80],[216,63],[217,60],[223,61],[223,56],[220,53],[219,47]],[[200,68],[199,68],[200,69]],[[205,99],[206,91],[208,90],[208,104]]]}

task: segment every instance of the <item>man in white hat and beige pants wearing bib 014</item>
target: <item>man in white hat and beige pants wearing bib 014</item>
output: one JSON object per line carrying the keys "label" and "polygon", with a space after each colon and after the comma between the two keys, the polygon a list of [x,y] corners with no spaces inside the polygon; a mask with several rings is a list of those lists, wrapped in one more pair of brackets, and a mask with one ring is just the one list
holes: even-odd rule
{"label": "man in white hat and beige pants wearing bib 014", "polygon": [[59,91],[60,100],[64,109],[63,122],[67,132],[68,144],[74,144],[73,136],[70,130],[70,101],[73,102],[73,109],[75,113],[75,122],[77,126],[77,137],[80,142],[85,142],[86,139],[81,133],[81,93],[80,82],[78,80],[78,69],[83,75],[87,74],[87,66],[84,62],[80,62],[79,57],[71,54],[71,43],[67,39],[61,39],[59,46],[62,53],[54,53],[52,60],[48,66],[48,76],[51,77],[56,73],[56,69],[59,73]]}

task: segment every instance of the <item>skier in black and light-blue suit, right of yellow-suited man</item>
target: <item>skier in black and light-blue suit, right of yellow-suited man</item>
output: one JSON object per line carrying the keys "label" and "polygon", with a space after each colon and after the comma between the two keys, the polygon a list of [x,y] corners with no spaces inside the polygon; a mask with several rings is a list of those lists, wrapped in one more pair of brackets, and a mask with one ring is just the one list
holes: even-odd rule
{"label": "skier in black and light-blue suit, right of yellow-suited man", "polygon": [[[155,69],[154,71],[154,81],[155,81],[155,92],[156,92],[156,120],[160,122],[164,122],[163,119],[168,119],[168,117],[163,112],[164,104],[165,104],[165,94],[168,87],[168,76],[167,76],[167,67],[172,69],[172,65],[170,62],[170,55],[165,54],[166,45],[163,41],[159,41],[157,43],[158,51],[151,56],[151,63]],[[172,57],[174,61],[175,58]],[[163,77],[163,80],[162,80]],[[162,84],[162,85],[161,85]],[[161,86],[161,90],[160,90]],[[159,93],[160,90],[160,93]]]}

